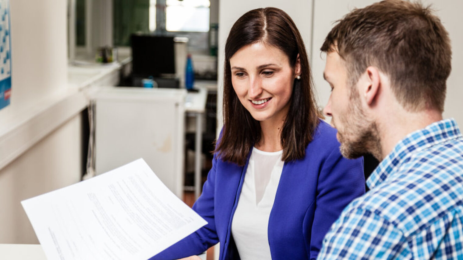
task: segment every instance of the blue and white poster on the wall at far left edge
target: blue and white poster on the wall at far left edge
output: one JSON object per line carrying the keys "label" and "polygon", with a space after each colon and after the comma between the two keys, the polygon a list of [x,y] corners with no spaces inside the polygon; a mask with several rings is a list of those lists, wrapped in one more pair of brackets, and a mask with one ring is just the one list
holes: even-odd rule
{"label": "blue and white poster on the wall at far left edge", "polygon": [[0,109],[10,105],[11,40],[10,0],[0,0]]}

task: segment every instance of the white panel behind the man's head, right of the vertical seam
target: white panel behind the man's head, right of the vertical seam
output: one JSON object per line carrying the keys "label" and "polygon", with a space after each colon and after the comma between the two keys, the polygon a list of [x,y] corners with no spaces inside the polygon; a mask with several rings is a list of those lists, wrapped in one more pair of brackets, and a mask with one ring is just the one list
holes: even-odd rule
{"label": "white panel behind the man's head, right of the vertical seam", "polygon": [[[312,72],[315,86],[319,94],[319,105],[324,107],[330,96],[330,87],[323,80],[323,70],[325,68],[325,55],[320,56],[320,47],[328,32],[331,30],[333,22],[341,19],[353,8],[362,8],[376,2],[375,0],[314,0],[314,19],[313,19],[313,46],[312,46]],[[463,1],[454,0],[423,0],[425,4],[432,4],[437,11],[452,41],[452,72],[447,80],[447,98],[445,100],[444,118],[453,117],[457,120],[460,127],[463,127],[463,31],[461,25],[463,17]],[[425,72],[423,72],[425,73]]]}

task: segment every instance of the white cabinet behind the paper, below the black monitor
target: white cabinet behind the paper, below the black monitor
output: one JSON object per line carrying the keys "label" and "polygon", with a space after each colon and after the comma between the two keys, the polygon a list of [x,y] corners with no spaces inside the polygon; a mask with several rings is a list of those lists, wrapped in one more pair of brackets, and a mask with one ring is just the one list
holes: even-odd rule
{"label": "white cabinet behind the paper, below the black monitor", "polygon": [[182,198],[185,89],[105,87],[95,95],[95,170],[143,158]]}

